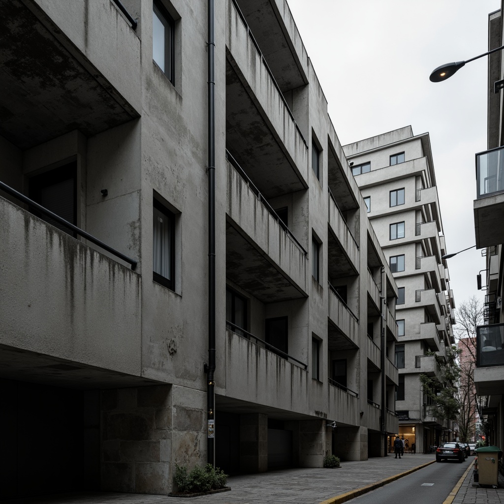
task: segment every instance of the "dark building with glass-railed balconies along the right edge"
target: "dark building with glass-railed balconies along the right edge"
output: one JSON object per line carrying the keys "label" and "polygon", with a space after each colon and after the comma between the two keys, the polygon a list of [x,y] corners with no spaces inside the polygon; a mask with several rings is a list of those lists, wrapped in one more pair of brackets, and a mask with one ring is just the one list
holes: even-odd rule
{"label": "dark building with glass-railed balconies along the right edge", "polygon": [[[488,16],[488,49],[504,43],[500,10]],[[470,71],[470,69],[467,69]],[[490,445],[504,442],[504,112],[501,103],[502,52],[488,56],[488,150],[476,154],[474,227],[476,247],[486,255],[484,325],[477,328],[474,382]],[[486,280],[486,282],[485,282]]]}

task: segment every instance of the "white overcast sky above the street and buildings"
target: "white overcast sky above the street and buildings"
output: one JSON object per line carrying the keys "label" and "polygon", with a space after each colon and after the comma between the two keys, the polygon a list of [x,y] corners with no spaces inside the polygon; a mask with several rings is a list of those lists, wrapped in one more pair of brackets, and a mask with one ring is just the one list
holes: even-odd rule
{"label": "white overcast sky above the street and buildings", "polygon": [[[486,150],[486,52],[499,0],[287,0],[342,145],[411,125],[429,132],[447,253],[475,244],[475,153]],[[481,250],[448,260],[455,303],[482,298]],[[484,279],[484,276],[483,276]],[[483,280],[483,284],[484,284]]]}

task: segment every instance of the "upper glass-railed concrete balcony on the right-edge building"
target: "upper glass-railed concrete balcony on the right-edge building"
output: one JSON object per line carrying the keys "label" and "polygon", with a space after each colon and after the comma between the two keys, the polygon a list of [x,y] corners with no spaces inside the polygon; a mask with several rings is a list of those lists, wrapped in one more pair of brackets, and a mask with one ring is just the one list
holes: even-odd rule
{"label": "upper glass-railed concrete balcony on the right-edge building", "polygon": [[504,242],[504,147],[476,154],[476,247]]}

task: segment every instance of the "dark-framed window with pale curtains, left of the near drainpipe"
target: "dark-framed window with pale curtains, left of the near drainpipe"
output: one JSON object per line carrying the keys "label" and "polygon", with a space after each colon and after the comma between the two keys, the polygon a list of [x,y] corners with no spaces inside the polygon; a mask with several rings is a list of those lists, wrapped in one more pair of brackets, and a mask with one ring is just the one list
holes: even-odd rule
{"label": "dark-framed window with pale curtains, left of the near drainpipe", "polygon": [[153,280],[175,290],[175,216],[157,200],[153,206]]}

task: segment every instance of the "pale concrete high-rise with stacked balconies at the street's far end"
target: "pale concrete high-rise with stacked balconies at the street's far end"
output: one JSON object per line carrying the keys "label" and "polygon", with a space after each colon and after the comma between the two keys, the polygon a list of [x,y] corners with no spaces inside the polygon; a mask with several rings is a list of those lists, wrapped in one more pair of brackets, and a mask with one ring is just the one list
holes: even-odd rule
{"label": "pale concrete high-rise with stacked balconies at the street's far end", "polygon": [[427,452],[443,438],[451,439],[453,426],[429,414],[419,375],[438,375],[455,342],[455,302],[442,259],[445,237],[429,135],[414,136],[406,127],[343,150],[398,285],[399,434],[418,452]]}

